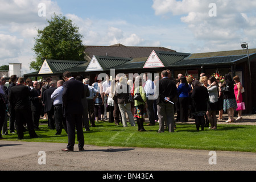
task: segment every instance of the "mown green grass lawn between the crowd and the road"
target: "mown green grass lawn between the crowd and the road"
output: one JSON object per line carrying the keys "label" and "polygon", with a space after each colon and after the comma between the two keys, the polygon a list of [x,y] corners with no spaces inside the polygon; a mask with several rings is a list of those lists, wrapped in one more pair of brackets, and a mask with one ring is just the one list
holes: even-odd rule
{"label": "mown green grass lawn between the crowd and the road", "polygon": [[[129,125],[130,123],[128,123]],[[138,127],[116,126],[114,123],[97,122],[97,127],[84,131],[85,144],[96,146],[149,147],[149,148],[182,148],[195,150],[224,151],[256,151],[256,127],[248,125],[218,124],[217,130],[206,128],[196,131],[195,124],[176,123],[175,133],[157,133],[159,125],[146,126],[147,132],[137,131]],[[47,125],[40,125],[36,130],[39,138],[30,139],[28,132],[24,133],[26,142],[67,143],[68,137],[63,130],[61,135],[55,135],[56,130],[50,130]],[[4,140],[18,140],[16,134],[3,135]],[[77,143],[77,141],[76,141]]]}

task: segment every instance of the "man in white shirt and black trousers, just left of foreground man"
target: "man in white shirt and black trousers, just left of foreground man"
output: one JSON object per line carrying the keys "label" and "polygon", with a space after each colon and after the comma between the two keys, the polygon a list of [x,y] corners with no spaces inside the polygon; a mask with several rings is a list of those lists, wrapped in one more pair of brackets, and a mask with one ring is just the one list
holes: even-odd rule
{"label": "man in white shirt and black trousers, just left of foreground man", "polygon": [[67,131],[67,123],[63,116],[63,101],[62,101],[62,94],[63,94],[63,80],[57,81],[57,89],[54,90],[54,92],[51,95],[51,99],[53,99],[53,105],[54,105],[54,119],[55,119],[55,125],[56,125],[56,134],[60,135],[62,129]]}

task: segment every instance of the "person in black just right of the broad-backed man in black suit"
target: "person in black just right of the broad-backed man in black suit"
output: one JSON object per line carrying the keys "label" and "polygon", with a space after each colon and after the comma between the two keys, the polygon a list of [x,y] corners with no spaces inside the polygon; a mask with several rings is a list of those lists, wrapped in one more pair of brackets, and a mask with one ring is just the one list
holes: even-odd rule
{"label": "person in black just right of the broad-backed man in black suit", "polygon": [[34,129],[39,129],[39,119],[42,109],[42,101],[40,100],[41,91],[39,89],[38,81],[34,81],[34,88],[30,90],[31,97],[31,111],[32,111],[32,121],[34,123]]}

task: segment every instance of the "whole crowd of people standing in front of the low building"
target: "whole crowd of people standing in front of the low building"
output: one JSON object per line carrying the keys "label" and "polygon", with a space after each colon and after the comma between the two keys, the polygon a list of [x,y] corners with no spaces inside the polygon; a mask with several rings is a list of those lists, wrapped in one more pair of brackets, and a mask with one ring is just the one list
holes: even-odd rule
{"label": "whole crowd of people standing in front of the low building", "polygon": [[[111,79],[110,79],[111,78]],[[0,81],[0,128],[2,134],[8,134],[7,117],[10,133],[18,134],[23,139],[27,131],[31,138],[36,138],[40,117],[47,118],[48,127],[60,135],[64,129],[69,143],[64,151],[72,151],[75,143],[75,127],[79,148],[83,150],[82,128],[89,131],[98,121],[122,124],[123,127],[138,126],[138,131],[159,122],[158,133],[165,129],[174,132],[176,122],[188,122],[195,118],[196,130],[217,129],[217,121],[222,120],[224,111],[228,121],[234,121],[234,111],[242,102],[242,84],[240,78],[226,74],[223,82],[218,76],[206,76],[201,73],[199,79],[192,76],[177,75],[171,77],[170,70],[163,70],[154,81],[145,73],[133,80],[125,75],[115,78],[106,75],[104,80],[96,77],[93,83],[89,78],[70,72],[63,73],[63,80],[24,82],[23,77],[10,77],[9,87],[5,78]],[[7,114],[8,113],[8,114]],[[175,119],[176,113],[176,119]],[[127,114],[127,117],[126,117]],[[218,115],[218,118],[216,117]],[[242,110],[238,118],[242,119]],[[136,121],[136,122],[135,122]],[[80,126],[81,122],[81,126]],[[89,124],[90,123],[90,124]],[[79,126],[79,127],[77,127]],[[2,139],[2,134],[0,138]]]}

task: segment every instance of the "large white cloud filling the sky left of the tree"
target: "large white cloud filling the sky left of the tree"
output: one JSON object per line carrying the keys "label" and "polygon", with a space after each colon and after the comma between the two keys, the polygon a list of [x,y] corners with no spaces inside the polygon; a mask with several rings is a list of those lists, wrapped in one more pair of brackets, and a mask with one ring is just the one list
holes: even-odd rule
{"label": "large white cloud filling the sky left of the tree", "polygon": [[[46,16],[38,15],[39,3],[46,5]],[[46,26],[53,13],[61,14],[60,7],[51,0],[0,0],[0,4],[1,65],[22,63],[22,69],[29,71],[37,30]]]}

